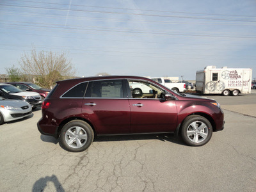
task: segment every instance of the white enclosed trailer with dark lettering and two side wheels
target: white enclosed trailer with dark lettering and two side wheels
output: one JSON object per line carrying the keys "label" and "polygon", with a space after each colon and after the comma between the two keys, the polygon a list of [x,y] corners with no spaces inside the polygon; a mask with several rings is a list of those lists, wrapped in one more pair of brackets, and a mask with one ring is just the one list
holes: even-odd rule
{"label": "white enclosed trailer with dark lettering and two side wheels", "polygon": [[196,92],[234,96],[251,93],[251,68],[216,68],[207,66],[196,72]]}

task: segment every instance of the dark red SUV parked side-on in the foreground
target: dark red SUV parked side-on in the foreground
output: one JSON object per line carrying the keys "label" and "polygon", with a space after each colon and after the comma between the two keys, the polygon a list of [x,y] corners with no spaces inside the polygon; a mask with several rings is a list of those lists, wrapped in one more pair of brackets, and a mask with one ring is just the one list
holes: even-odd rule
{"label": "dark red SUV parked side-on in the foreground", "polygon": [[174,93],[145,77],[108,76],[58,81],[42,104],[38,130],[81,152],[106,134],[175,132],[201,146],[223,125],[215,100]]}

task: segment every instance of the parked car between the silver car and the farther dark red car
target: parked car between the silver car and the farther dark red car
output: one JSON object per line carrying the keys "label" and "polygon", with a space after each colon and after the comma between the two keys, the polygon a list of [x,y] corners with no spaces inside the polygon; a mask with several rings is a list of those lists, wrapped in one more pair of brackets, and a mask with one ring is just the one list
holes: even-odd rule
{"label": "parked car between the silver car and the farther dark red car", "polygon": [[12,84],[0,83],[0,96],[4,99],[17,99],[28,102],[33,109],[42,105],[42,98],[36,92],[22,92]]}

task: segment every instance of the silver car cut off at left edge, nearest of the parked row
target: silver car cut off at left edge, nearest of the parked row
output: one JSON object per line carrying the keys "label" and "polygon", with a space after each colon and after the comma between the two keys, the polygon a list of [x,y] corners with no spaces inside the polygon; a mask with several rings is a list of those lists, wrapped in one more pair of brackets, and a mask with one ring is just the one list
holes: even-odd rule
{"label": "silver car cut off at left edge, nearest of the parked row", "polygon": [[23,100],[11,100],[0,97],[0,125],[31,115],[32,108]]}

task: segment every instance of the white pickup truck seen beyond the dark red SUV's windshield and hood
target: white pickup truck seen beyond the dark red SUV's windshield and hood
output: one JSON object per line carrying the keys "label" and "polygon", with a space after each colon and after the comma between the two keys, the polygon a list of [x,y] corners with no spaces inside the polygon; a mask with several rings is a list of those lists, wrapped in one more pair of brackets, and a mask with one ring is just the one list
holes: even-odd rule
{"label": "white pickup truck seen beyond the dark red SUV's windshield and hood", "polygon": [[173,90],[173,92],[186,92],[186,83],[172,83],[170,79],[164,79],[163,77],[151,77],[150,79],[156,81],[157,83],[163,84],[167,88]]}

